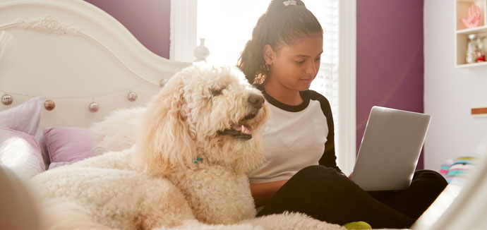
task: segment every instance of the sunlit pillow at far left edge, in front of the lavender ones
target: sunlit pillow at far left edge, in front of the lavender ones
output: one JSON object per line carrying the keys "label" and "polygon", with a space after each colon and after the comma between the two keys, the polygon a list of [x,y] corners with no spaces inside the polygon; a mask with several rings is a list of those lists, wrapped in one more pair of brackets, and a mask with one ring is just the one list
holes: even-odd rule
{"label": "sunlit pillow at far left edge, in front of the lavender ones", "polygon": [[10,128],[0,128],[0,164],[25,180],[45,170],[35,138]]}

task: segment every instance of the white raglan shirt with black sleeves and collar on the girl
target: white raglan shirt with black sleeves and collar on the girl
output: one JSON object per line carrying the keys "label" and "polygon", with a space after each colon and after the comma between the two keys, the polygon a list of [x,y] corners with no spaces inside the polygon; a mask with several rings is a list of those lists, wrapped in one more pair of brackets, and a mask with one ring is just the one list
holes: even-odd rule
{"label": "white raglan shirt with black sleeves and collar on the girl", "polygon": [[304,167],[317,164],[340,171],[330,102],[318,92],[306,90],[300,92],[303,103],[290,106],[267,95],[263,87],[260,90],[270,117],[263,127],[265,162],[248,172],[250,182],[287,180]]}

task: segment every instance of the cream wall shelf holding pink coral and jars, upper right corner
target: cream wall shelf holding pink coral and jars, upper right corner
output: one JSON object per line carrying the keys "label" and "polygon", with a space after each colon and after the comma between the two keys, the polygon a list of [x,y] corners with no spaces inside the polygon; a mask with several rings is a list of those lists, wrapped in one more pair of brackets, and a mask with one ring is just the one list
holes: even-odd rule
{"label": "cream wall shelf holding pink coral and jars, upper right corner", "polygon": [[[479,6],[482,11],[480,25],[476,28],[467,28],[462,22],[462,18],[467,18],[469,14],[469,7],[475,4]],[[479,63],[467,63],[467,44],[468,36],[476,34],[486,37],[483,40],[483,49],[486,52],[487,41],[487,0],[456,0],[455,1],[455,67],[469,68],[476,66],[487,66],[487,61]],[[487,53],[487,52],[486,52]]]}

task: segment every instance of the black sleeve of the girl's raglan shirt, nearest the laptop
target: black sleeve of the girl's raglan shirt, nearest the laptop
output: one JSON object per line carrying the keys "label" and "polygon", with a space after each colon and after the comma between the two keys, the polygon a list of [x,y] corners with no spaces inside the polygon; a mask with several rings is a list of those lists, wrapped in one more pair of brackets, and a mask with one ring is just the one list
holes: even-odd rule
{"label": "black sleeve of the girl's raglan shirt, nearest the laptop", "polygon": [[325,152],[320,158],[319,164],[325,167],[330,167],[337,169],[337,171],[342,173],[342,170],[337,166],[337,156],[335,155],[335,126],[333,124],[332,108],[330,107],[330,102],[323,95],[318,92],[309,90],[311,99],[316,99],[320,102],[321,110],[326,117],[326,123],[328,126],[328,135],[325,143]]}

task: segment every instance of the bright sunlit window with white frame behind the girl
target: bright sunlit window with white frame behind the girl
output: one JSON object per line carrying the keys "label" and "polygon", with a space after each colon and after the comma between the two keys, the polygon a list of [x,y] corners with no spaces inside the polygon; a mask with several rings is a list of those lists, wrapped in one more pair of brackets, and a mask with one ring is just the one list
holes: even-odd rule
{"label": "bright sunlit window with white frame behind the girl", "polygon": [[[173,0],[172,27],[177,28],[172,28],[172,59],[194,61],[193,49],[197,38],[198,44],[199,38],[204,38],[205,46],[210,49],[208,62],[236,65],[240,52],[252,35],[253,26],[269,2]],[[320,71],[311,89],[330,101],[335,120],[337,164],[349,174],[355,162],[356,3],[355,0],[305,0],[304,3],[324,30]],[[181,52],[174,50],[173,47],[181,47],[181,44],[184,44]]]}

